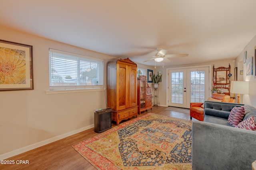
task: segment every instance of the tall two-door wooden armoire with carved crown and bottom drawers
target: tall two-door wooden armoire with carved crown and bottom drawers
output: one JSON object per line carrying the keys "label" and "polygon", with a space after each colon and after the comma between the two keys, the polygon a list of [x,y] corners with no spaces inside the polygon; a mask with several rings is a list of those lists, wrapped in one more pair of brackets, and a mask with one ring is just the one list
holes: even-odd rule
{"label": "tall two-door wooden armoire with carved crown and bottom drawers", "polygon": [[112,109],[112,121],[138,116],[137,64],[127,59],[108,62],[108,107]]}

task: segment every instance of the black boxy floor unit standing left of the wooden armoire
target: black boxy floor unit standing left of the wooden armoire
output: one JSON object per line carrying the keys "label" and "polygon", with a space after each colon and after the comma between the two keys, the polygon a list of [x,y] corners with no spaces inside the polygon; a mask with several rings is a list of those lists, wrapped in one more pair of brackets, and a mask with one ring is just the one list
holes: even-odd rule
{"label": "black boxy floor unit standing left of the wooden armoire", "polygon": [[96,133],[101,133],[111,129],[111,112],[111,108],[96,109],[94,111],[94,131]]}

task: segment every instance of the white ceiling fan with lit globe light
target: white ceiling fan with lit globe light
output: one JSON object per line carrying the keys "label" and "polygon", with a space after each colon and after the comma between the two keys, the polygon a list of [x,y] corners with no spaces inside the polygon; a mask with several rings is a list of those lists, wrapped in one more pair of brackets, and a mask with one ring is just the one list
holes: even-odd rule
{"label": "white ceiling fan with lit globe light", "polygon": [[168,58],[173,58],[173,57],[187,57],[188,54],[166,54],[167,53],[167,50],[163,49],[163,48],[157,48],[157,53],[155,56],[152,56],[151,59],[148,59],[146,61],[143,61],[143,62],[147,62],[147,61],[150,61],[150,60],[155,60],[156,62],[161,62],[161,61],[164,61],[166,63],[169,63],[170,60]]}

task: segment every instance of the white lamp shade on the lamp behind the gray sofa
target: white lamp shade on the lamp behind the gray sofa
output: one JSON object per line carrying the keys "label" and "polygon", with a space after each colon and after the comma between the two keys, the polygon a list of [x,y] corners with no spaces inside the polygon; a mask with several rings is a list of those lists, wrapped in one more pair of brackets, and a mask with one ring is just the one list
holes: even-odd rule
{"label": "white lamp shade on the lamp behind the gray sofa", "polygon": [[249,94],[249,82],[231,81],[230,92],[233,94]]}

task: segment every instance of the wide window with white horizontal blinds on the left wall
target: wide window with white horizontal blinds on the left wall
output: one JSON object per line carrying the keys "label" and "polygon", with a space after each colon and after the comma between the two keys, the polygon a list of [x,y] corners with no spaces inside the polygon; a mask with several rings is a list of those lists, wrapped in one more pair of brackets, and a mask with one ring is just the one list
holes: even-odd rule
{"label": "wide window with white horizontal blinds on the left wall", "polygon": [[49,49],[50,90],[103,88],[102,59]]}

